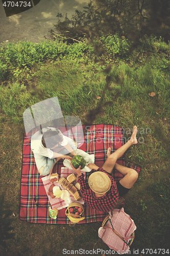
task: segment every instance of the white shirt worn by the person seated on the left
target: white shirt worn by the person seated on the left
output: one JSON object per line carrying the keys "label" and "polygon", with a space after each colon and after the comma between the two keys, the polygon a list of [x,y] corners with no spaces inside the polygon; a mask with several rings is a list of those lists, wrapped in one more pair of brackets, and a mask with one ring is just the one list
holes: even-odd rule
{"label": "white shirt worn by the person seated on the left", "polygon": [[[48,131],[50,129],[52,131],[59,131],[60,132],[60,130],[57,129],[57,128],[47,126],[47,127],[42,129],[42,133],[45,133],[46,131]],[[64,136],[61,132],[60,132],[60,134],[63,137],[63,141],[60,143],[60,145],[65,146],[67,144],[66,136]],[[42,145],[41,139],[42,139],[42,134],[41,134],[40,131],[36,132],[32,136],[32,138],[31,138],[31,150],[33,151],[33,153],[36,153],[38,155],[45,156],[45,157],[48,157],[48,158],[53,158],[53,151],[50,150],[50,148],[44,147]]]}

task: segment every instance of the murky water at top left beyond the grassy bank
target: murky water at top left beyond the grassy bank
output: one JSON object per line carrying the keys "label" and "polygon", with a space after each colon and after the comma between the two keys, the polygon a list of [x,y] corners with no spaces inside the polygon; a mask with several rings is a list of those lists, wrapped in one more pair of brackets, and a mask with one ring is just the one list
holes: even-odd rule
{"label": "murky water at top left beyond the grassy bank", "polygon": [[68,18],[75,14],[75,10],[83,10],[89,0],[41,0],[33,8],[16,15],[7,17],[3,3],[0,1],[0,42],[6,40],[30,40],[38,42],[47,37],[54,24],[56,15],[62,13]]}

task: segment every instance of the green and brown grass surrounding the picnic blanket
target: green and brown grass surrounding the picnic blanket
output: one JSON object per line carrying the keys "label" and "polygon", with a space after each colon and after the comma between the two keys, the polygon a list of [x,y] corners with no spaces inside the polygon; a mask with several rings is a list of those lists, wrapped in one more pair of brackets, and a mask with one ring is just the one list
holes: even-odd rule
{"label": "green and brown grass surrounding the picnic blanket", "polygon": [[[62,255],[63,248],[108,249],[98,237],[101,223],[71,227],[31,224],[18,219],[22,114],[29,106],[55,96],[63,115],[79,116],[82,124],[109,123],[123,127],[125,142],[130,137],[129,129],[137,125],[139,142],[126,153],[126,160],[141,166],[139,179],[125,205],[125,212],[137,226],[131,254],[137,248],[167,247],[170,46],[151,39],[151,48],[143,46],[143,56],[135,64],[137,51],[141,49],[124,58],[124,55],[112,54],[107,47],[105,61],[95,63],[95,51],[85,42],[71,46],[60,44],[60,48],[57,44],[19,42],[0,49],[1,195],[5,196],[4,207],[8,208],[11,203],[9,207],[14,214],[10,216],[14,238],[7,241],[7,248],[0,246],[1,255]],[[109,63],[110,72],[104,72]],[[15,75],[17,69],[18,75]],[[151,92],[156,96],[149,96]]]}

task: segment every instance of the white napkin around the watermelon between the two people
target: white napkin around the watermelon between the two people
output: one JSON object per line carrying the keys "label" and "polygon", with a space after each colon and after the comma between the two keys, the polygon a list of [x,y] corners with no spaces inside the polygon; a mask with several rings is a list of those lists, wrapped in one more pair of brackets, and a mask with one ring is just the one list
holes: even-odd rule
{"label": "white napkin around the watermelon between the two people", "polygon": [[[86,161],[86,164],[94,163],[94,154],[89,155],[86,152],[84,152],[83,150],[78,150],[78,149],[75,150],[75,153],[80,155],[80,156],[82,156],[84,158],[84,160]],[[68,159],[64,159],[63,165],[65,167],[71,168],[71,164],[70,164],[70,161]],[[89,167],[87,167],[87,166],[85,166],[82,170],[84,172],[90,172],[91,171],[91,169]]]}

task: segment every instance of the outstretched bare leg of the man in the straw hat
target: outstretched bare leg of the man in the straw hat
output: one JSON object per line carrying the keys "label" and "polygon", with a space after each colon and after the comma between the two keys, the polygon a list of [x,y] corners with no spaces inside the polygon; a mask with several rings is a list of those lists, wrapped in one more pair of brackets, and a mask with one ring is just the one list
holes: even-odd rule
{"label": "outstretched bare leg of the man in the straw hat", "polygon": [[136,139],[136,134],[137,134],[137,127],[136,125],[133,127],[133,133],[132,136],[130,138],[130,140],[125,143],[123,146],[119,147],[114,153],[109,154],[110,150],[108,148],[108,153],[107,156],[108,158],[106,159],[106,162],[104,163],[104,165],[102,166],[102,168],[104,170],[106,170],[106,172],[108,173],[112,173],[113,167],[117,161],[117,159],[119,159],[120,157],[123,156],[123,154],[128,150],[128,148],[133,145],[133,144],[137,144],[137,139]]}

